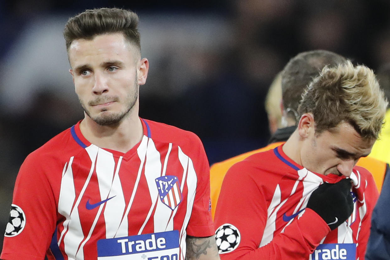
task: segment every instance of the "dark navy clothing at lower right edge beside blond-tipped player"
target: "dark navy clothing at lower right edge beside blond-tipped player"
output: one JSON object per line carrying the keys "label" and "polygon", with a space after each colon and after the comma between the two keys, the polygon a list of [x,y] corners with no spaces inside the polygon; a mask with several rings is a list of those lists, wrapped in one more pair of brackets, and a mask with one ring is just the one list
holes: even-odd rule
{"label": "dark navy clothing at lower right edge beside blond-tipped player", "polygon": [[386,175],[383,189],[372,212],[367,260],[390,259],[390,175]]}

